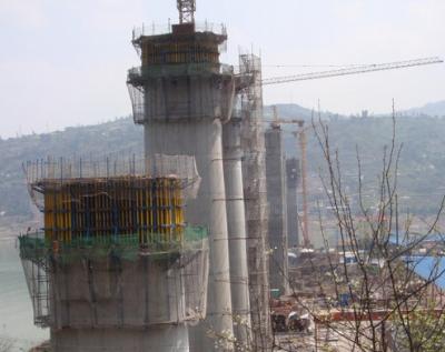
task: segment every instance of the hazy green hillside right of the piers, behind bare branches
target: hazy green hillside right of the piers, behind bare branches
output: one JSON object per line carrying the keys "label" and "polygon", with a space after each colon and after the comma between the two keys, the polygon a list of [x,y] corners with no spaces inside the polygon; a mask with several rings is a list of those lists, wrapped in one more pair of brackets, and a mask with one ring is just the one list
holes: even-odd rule
{"label": "hazy green hillside right of the piers, behind bare branches", "polygon": [[[310,122],[309,122],[310,123]],[[358,192],[357,149],[365,193],[373,199],[382,172],[385,145],[392,141],[390,118],[338,119],[328,122],[332,150],[338,150],[342,174],[348,193]],[[396,145],[402,145],[398,193],[404,212],[434,213],[445,194],[445,119],[396,118]],[[286,138],[289,154],[296,154],[295,138]],[[308,131],[308,168],[313,200],[323,199],[319,175],[326,163],[312,130]],[[322,171],[320,171],[322,170]],[[374,197],[375,199],[375,197]],[[357,200],[357,198],[355,198]]]}

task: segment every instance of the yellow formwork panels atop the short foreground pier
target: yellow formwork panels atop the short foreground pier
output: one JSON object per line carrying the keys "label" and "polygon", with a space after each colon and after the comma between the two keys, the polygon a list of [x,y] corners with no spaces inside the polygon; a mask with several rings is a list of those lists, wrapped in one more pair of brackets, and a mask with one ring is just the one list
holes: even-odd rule
{"label": "yellow formwork panels atop the short foreground pier", "polygon": [[184,199],[175,178],[72,179],[39,184],[50,241],[138,234],[141,243],[181,242]]}

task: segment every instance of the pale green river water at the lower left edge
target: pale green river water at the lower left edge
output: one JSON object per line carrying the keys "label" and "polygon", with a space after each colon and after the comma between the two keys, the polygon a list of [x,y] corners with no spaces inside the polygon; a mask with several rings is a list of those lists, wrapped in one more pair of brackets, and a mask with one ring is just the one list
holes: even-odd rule
{"label": "pale green river water at the lower left edge", "polygon": [[11,351],[28,351],[48,340],[48,330],[36,328],[32,316],[16,239],[0,238],[0,341],[11,341]]}

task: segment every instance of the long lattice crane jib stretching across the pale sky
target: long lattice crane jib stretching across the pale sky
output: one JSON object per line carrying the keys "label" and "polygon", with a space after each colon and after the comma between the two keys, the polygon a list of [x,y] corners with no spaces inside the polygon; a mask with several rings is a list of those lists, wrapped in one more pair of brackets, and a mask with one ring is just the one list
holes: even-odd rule
{"label": "long lattice crane jib stretching across the pale sky", "polygon": [[397,61],[388,63],[364,64],[364,66],[349,67],[338,70],[301,73],[296,76],[275,77],[275,78],[264,79],[261,82],[263,86],[270,86],[278,83],[317,80],[322,78],[338,77],[338,76],[349,76],[349,74],[358,74],[358,73],[375,72],[375,71],[404,69],[416,66],[426,66],[426,64],[443,63],[443,62],[444,61],[441,58],[433,57],[433,58],[406,60],[406,61]]}

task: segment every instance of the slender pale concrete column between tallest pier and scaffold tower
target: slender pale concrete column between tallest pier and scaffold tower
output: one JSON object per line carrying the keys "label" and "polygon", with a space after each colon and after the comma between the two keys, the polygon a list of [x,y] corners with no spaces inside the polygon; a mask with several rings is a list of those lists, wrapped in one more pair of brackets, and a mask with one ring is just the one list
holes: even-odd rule
{"label": "slender pale concrete column between tallest pier and scaffold tower", "polygon": [[247,231],[243,191],[240,121],[233,118],[222,127],[224,177],[226,183],[227,225],[229,238],[231,303],[235,336],[248,346],[250,304],[247,268]]}

